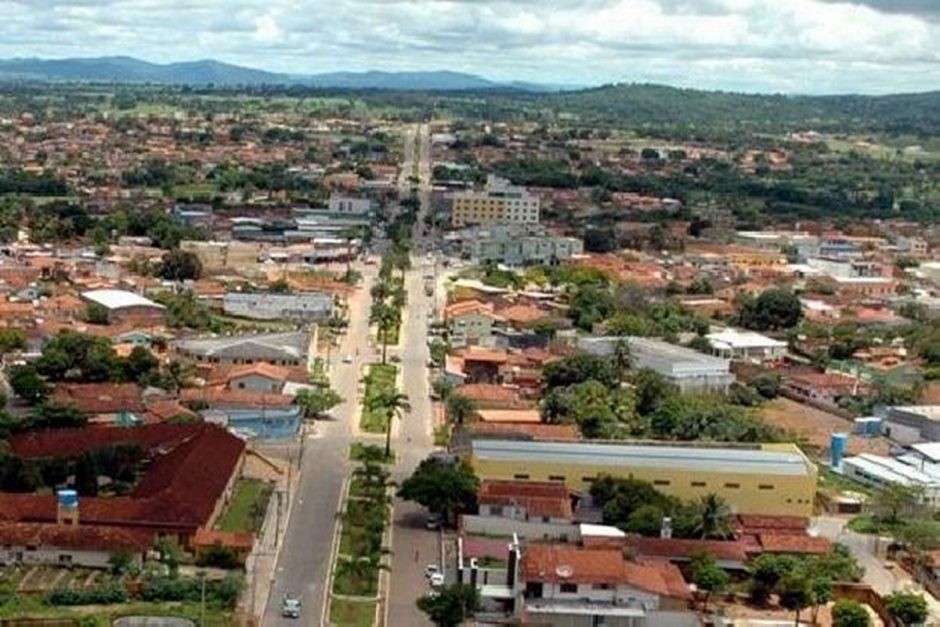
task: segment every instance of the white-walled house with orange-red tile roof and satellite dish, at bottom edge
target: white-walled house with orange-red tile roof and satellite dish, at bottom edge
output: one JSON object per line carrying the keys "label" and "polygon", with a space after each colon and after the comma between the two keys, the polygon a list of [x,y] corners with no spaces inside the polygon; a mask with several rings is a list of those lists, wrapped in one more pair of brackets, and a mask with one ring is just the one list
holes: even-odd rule
{"label": "white-walled house with orange-red tile roof and satellite dish, at bottom edge", "polygon": [[631,561],[616,549],[529,543],[521,551],[515,592],[524,624],[698,624],[688,610],[692,594],[678,567]]}

